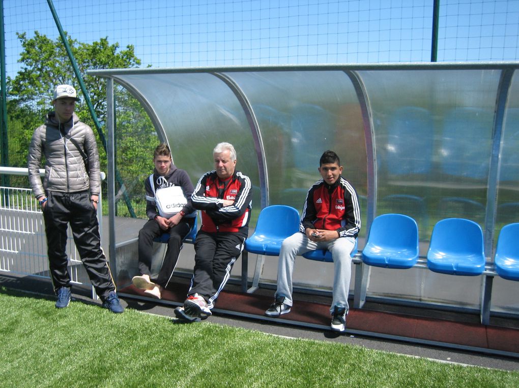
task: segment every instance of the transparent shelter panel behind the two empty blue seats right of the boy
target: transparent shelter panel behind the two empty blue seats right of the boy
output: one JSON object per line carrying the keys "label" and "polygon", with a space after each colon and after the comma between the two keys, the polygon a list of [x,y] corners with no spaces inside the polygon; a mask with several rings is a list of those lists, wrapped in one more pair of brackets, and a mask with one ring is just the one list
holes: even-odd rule
{"label": "transparent shelter panel behind the two empty blue seats right of the boy", "polygon": [[[377,211],[413,217],[426,255],[432,228],[449,217],[484,226],[498,70],[359,71],[370,98]],[[409,279],[412,276],[414,280]],[[391,284],[408,284],[406,288]],[[368,295],[477,308],[479,278],[425,269],[372,269]]]}

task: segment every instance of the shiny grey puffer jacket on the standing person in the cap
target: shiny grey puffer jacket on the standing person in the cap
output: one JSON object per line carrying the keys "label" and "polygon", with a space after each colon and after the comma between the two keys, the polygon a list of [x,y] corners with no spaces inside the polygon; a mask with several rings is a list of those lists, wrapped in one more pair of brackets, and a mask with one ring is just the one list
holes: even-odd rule
{"label": "shiny grey puffer jacket on the standing person in the cap", "polygon": [[[34,131],[29,147],[29,182],[36,198],[45,195],[45,190],[74,193],[90,190],[90,194],[101,192],[99,153],[95,137],[85,123],[79,121],[76,113],[72,119],[60,123],[54,112],[47,115],[45,124]],[[70,138],[83,147],[88,156],[90,178],[85,170],[83,157]],[[45,179],[40,179],[39,171],[42,155],[45,156]]]}

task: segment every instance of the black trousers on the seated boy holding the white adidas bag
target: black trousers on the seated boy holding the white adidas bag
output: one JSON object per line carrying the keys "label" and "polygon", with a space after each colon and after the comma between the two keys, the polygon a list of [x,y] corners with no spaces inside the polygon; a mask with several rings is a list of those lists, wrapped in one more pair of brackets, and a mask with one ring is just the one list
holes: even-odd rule
{"label": "black trousers on the seated boy holding the white adidas bag", "polygon": [[164,256],[164,261],[160,267],[157,279],[153,280],[166,288],[173,275],[176,262],[179,260],[182,240],[187,236],[194,223],[194,218],[184,217],[178,225],[169,228],[168,231],[163,231],[156,221],[148,220],[139,231],[139,271],[141,271],[141,274],[151,275],[153,239],[162,233],[169,233],[168,249]]}

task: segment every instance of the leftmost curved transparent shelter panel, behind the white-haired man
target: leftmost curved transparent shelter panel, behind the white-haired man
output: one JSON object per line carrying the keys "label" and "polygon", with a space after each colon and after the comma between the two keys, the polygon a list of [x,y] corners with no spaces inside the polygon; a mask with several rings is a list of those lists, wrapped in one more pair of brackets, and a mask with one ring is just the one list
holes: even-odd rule
{"label": "leftmost curved transparent shelter panel, behind the white-haired man", "polygon": [[[259,176],[251,129],[238,99],[223,81],[204,73],[125,75],[116,77],[116,81],[130,85],[144,105],[152,107],[147,112],[152,121],[162,126],[174,164],[187,171],[194,185],[206,171],[214,168],[214,146],[222,141],[233,144],[237,152],[236,168],[250,177],[253,207],[259,207]],[[126,136],[120,128],[121,117],[127,112],[121,109],[119,100],[117,104],[116,134]],[[138,130],[141,127],[139,116],[135,113],[132,116],[129,126],[133,123]],[[148,141],[149,149],[143,151],[148,163],[124,180],[127,189],[143,188],[144,179],[151,174],[153,151],[162,140],[160,128],[157,132],[155,141]],[[142,140],[140,136],[132,139],[139,143]],[[120,144],[117,141],[117,161],[124,164],[134,156],[125,152]],[[140,194],[140,189],[136,191]]]}

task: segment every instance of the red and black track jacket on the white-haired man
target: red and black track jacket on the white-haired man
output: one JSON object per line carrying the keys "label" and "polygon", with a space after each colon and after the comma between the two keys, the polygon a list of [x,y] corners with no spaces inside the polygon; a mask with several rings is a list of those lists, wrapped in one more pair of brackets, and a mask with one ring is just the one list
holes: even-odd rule
{"label": "red and black track jacket on the white-haired man", "polygon": [[[234,204],[224,207],[224,199],[232,199]],[[226,181],[221,181],[215,170],[204,174],[195,186],[191,201],[195,209],[202,210],[202,231],[249,235],[251,181],[240,171],[235,171]]]}

